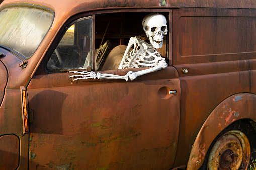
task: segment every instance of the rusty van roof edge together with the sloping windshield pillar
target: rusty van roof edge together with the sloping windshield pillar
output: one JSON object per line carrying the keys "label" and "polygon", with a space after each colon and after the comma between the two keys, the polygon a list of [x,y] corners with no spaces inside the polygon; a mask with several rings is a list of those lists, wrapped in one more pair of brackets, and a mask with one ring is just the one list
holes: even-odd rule
{"label": "rusty van roof edge together with the sloping windshield pillar", "polygon": [[[141,0],[134,0],[134,1],[87,1],[84,2],[82,0],[75,1],[11,1],[7,0],[1,4],[0,7],[8,4],[14,3],[27,3],[27,4],[35,4],[48,7],[55,11],[55,19],[52,25],[52,28],[49,30],[49,33],[46,35],[47,39],[45,39],[41,45],[39,46],[38,50],[35,52],[33,56],[40,56],[40,57],[32,57],[29,60],[28,66],[32,68],[38,67],[38,63],[40,63],[41,59],[45,55],[45,52],[49,48],[49,45],[52,42],[52,38],[56,36],[59,27],[65,23],[65,21],[70,18],[71,16],[81,13],[87,12],[97,9],[117,9],[117,8],[157,8],[160,7],[164,8],[172,8],[174,7],[215,7],[215,8],[250,8],[253,9],[256,7],[256,2],[252,0],[248,1],[232,1],[232,3],[227,1],[204,1],[204,2],[194,2],[190,0],[186,1],[141,1]],[[28,78],[27,74],[31,77],[33,76],[35,70],[26,69],[28,71],[25,77],[21,78],[22,80],[26,80]],[[24,83],[23,83],[24,84]]]}

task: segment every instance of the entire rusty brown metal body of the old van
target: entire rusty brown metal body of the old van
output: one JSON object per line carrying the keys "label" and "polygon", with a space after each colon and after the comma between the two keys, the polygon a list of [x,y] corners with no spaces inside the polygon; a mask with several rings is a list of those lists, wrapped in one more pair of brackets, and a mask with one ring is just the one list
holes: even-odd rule
{"label": "entire rusty brown metal body of the old van", "polygon": [[[227,43],[220,40],[216,41],[218,54],[214,55],[201,47],[193,49],[183,46],[204,37],[215,37],[208,35],[206,29],[200,30],[200,20],[192,20],[192,17],[208,18],[211,22],[208,30],[218,23],[214,23],[217,19],[214,17],[222,18],[222,21],[219,20],[222,24],[216,29],[222,31],[226,28],[223,23],[228,19],[238,25],[245,21],[253,23],[255,1],[78,0],[74,3],[6,0],[0,8],[29,4],[51,9],[55,16],[49,32],[27,60],[26,68],[19,67],[23,59],[8,49],[0,48],[0,54],[5,55],[0,58],[4,64],[0,63],[3,77],[0,89],[5,89],[0,93],[4,95],[0,108],[0,138],[9,134],[18,136],[18,169],[79,169],[84,166],[95,169],[170,169],[186,167],[188,161],[189,169],[197,169],[202,165],[209,144],[223,128],[239,119],[255,120],[255,112],[251,109],[252,94],[256,93],[255,51],[224,54],[221,50],[225,50],[223,47]],[[81,15],[94,18],[94,15],[104,13],[150,13],[156,10],[168,13],[169,17],[167,68],[138,77],[133,82],[98,79],[72,81],[69,78],[72,73],[49,73],[45,69],[47,55],[51,55],[48,53],[53,51],[67,21]],[[192,21],[197,22],[193,24]],[[186,37],[186,34],[191,34],[186,27],[192,26],[196,28],[195,34]],[[248,32],[246,29],[240,29],[239,34],[230,29],[228,33],[243,38],[239,35],[245,35]],[[225,37],[224,32],[220,33]],[[255,37],[254,32],[250,35]],[[203,41],[198,44],[202,47],[205,45]],[[210,47],[207,45],[207,48]],[[239,46],[238,42],[232,47],[239,50],[243,46]],[[184,69],[188,73],[184,73]],[[127,70],[99,72],[125,75]],[[23,134],[22,130],[20,86],[27,87],[29,108],[34,109],[29,134]],[[168,94],[171,90],[177,90],[177,93]],[[246,103],[246,98],[242,97],[241,103],[236,105],[239,102],[234,100],[239,96],[247,96],[250,102]],[[226,104],[230,105],[231,110],[225,109],[229,114],[221,117],[219,110]],[[248,113],[244,113],[243,104],[249,104]],[[210,122],[213,124],[209,125]],[[218,130],[206,141],[207,130],[214,128]],[[17,141],[16,138],[14,140]],[[17,156],[14,161],[17,162]]]}

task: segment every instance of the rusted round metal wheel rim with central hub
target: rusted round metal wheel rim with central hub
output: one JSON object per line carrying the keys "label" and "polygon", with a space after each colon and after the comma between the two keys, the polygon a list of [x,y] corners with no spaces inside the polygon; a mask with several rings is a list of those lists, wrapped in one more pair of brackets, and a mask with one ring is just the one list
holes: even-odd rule
{"label": "rusted round metal wheel rim with central hub", "polygon": [[217,139],[211,148],[207,169],[247,169],[250,162],[250,143],[239,130],[231,130]]}

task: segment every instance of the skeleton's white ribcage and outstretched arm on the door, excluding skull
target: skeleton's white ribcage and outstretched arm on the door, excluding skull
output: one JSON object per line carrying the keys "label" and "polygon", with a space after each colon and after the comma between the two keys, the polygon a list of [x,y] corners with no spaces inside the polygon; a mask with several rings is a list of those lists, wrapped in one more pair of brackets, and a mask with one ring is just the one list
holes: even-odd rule
{"label": "skeleton's white ribcage and outstretched arm on the door, excluding skull", "polygon": [[[130,51],[133,45],[134,45],[134,49]],[[139,39],[138,37],[131,37],[118,69],[140,68],[140,67],[150,67],[150,68],[137,71],[137,72],[129,71],[124,76],[119,76],[115,74],[106,74],[106,73],[96,74],[94,72],[77,72],[77,71],[70,71],[68,73],[80,73],[80,75],[70,76],[70,77],[78,77],[73,81],[80,80],[80,79],[89,79],[89,78],[124,79],[126,81],[130,79],[132,81],[136,79],[138,76],[151,73],[157,70],[161,70],[167,67],[167,63],[164,61],[164,58],[162,58],[161,55],[156,50],[154,50],[154,48],[150,47],[149,44]]]}

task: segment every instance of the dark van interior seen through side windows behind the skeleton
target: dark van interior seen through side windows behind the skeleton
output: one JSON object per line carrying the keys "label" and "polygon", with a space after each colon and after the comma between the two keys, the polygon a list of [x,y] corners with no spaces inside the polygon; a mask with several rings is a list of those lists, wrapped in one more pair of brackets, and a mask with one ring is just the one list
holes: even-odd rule
{"label": "dark van interior seen through side windows behind the skeleton", "polygon": [[[77,69],[117,69],[130,37],[139,36],[142,40],[147,41],[142,28],[142,21],[148,14],[150,13],[104,13],[95,15],[95,23],[93,23],[92,17],[85,17],[72,22],[51,54],[46,70],[62,72]],[[168,13],[161,14],[168,19]],[[95,30],[92,28],[93,25],[95,25]],[[93,35],[93,33],[95,34]],[[158,49],[163,58],[167,56],[167,36],[168,34],[164,36],[162,48]],[[94,56],[91,53],[94,43],[96,62],[93,62]],[[96,63],[95,66],[94,63]],[[88,67],[90,68],[88,69]]]}

